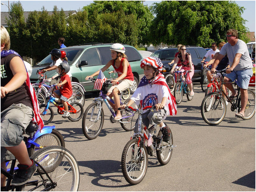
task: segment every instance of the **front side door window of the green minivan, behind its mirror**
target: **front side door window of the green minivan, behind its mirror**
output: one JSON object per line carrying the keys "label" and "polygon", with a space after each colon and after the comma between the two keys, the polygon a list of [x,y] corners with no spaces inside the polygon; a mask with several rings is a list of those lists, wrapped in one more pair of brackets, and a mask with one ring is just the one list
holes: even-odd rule
{"label": "front side door window of the green minivan, behind its mirror", "polygon": [[80,61],[87,61],[88,65],[99,65],[100,57],[96,48],[90,48],[84,51],[83,55],[80,58]]}

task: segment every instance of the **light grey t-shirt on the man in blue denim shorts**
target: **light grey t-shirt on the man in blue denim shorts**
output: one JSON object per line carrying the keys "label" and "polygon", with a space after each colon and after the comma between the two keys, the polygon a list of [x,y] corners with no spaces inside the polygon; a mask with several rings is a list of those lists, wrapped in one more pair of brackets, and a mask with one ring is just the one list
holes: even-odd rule
{"label": "light grey t-shirt on the man in blue denim shorts", "polygon": [[230,66],[233,64],[233,60],[237,53],[241,53],[242,56],[239,60],[238,65],[234,68],[234,71],[252,69],[252,59],[249,55],[247,45],[245,44],[244,41],[238,39],[238,42],[234,46],[230,45],[229,43],[226,43],[220,50],[220,54],[227,54]]}

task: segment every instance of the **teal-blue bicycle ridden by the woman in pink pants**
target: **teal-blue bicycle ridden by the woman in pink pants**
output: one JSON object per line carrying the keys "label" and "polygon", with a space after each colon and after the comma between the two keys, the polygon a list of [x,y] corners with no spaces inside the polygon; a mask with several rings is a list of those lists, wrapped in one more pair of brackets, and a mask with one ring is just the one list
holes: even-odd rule
{"label": "teal-blue bicycle ridden by the woman in pink pants", "polygon": [[[177,71],[177,73],[182,73],[181,71]],[[184,72],[184,75],[180,75],[180,80],[176,83],[174,87],[174,97],[176,99],[176,104],[180,104],[182,101],[183,95],[187,95],[187,99],[191,101],[193,99],[193,96],[190,96],[190,89],[186,83],[188,71]],[[192,87],[194,87],[192,83]]]}

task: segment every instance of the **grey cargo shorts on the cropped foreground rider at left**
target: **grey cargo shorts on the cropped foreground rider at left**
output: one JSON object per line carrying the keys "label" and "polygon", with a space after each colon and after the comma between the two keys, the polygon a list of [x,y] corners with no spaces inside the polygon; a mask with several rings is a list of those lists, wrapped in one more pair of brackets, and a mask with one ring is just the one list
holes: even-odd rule
{"label": "grey cargo shorts on the cropped foreground rider at left", "polygon": [[1,162],[8,160],[5,147],[14,147],[23,140],[23,130],[33,117],[32,108],[24,104],[12,104],[1,112]]}

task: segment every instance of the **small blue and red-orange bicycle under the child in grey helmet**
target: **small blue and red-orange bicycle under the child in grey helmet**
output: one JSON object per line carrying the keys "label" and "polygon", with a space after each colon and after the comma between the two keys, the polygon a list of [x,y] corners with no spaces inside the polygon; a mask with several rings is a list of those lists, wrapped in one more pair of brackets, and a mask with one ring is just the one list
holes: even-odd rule
{"label": "small blue and red-orange bicycle under the child in grey helmet", "polygon": [[[52,85],[52,86],[55,86],[55,85]],[[58,102],[57,100],[59,99],[50,96],[47,104],[39,105],[41,118],[43,119],[45,125],[47,125],[53,120],[53,109],[51,106],[49,106],[50,103],[52,103],[58,108],[57,112],[59,114],[63,114],[65,111],[63,104],[61,102]],[[83,115],[83,106],[76,101],[72,101],[71,103],[67,101],[67,104],[68,104],[68,112],[69,112],[68,119],[71,121],[79,121]]]}

